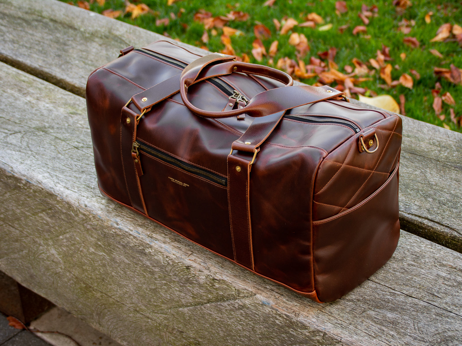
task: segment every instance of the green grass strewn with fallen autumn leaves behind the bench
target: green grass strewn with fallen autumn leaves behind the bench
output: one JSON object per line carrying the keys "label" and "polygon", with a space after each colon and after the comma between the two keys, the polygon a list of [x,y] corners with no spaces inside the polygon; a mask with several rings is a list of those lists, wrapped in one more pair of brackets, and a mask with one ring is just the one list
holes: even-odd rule
{"label": "green grass strewn with fallen autumn leaves behind the bench", "polygon": [[[68,2],[68,0],[63,0]],[[392,66],[398,65],[400,69],[393,68],[393,80],[399,79],[401,74],[407,73],[413,77],[413,89],[408,89],[402,85],[395,88],[385,90],[380,88],[379,84],[385,84],[384,80],[380,78],[378,71],[371,75],[371,81],[359,84],[360,87],[366,87],[378,95],[389,94],[392,95],[399,103],[399,95],[404,94],[406,97],[406,115],[414,119],[423,120],[435,125],[449,126],[450,129],[462,132],[460,126],[454,124],[450,120],[449,109],[454,108],[456,117],[462,115],[462,86],[455,85],[443,78],[437,78],[433,74],[434,67],[449,68],[450,64],[462,68],[462,48],[455,41],[453,42],[430,42],[436,36],[438,27],[444,23],[459,24],[462,26],[462,3],[457,2],[444,2],[444,1],[417,1],[413,0],[413,6],[410,6],[402,15],[398,15],[395,11],[395,6],[392,5],[392,0],[379,0],[365,3],[368,6],[373,4],[378,7],[378,17],[370,18],[370,24],[367,25],[367,35],[371,38],[365,38],[361,34],[354,36],[352,30],[357,25],[364,25],[362,20],[358,17],[361,11],[362,1],[347,1],[348,12],[343,13],[340,17],[335,13],[335,0],[308,0],[312,3],[307,6],[307,1],[298,0],[276,0],[273,7],[262,6],[264,0],[255,1],[242,1],[239,6],[235,6],[236,1],[232,1],[234,8],[227,6],[225,0],[216,0],[213,2],[205,0],[195,1],[177,1],[171,6],[167,6],[166,0],[144,0],[133,1],[134,4],[145,3],[149,6],[154,13],[148,13],[139,16],[132,20],[130,14],[126,14],[118,19],[129,24],[135,24],[147,30],[157,32],[159,34],[167,33],[172,38],[177,38],[182,42],[194,46],[206,46],[210,51],[220,51],[224,49],[223,43],[220,41],[222,30],[216,28],[218,35],[213,36],[211,30],[208,30],[210,40],[208,43],[201,41],[201,36],[204,32],[203,24],[194,21],[194,14],[200,9],[212,12],[213,16],[225,16],[231,10],[243,11],[249,13],[250,18],[245,22],[230,21],[227,26],[238,29],[243,32],[242,36],[232,36],[232,46],[237,55],[246,53],[250,57],[250,62],[260,63],[262,65],[269,65],[269,58],[264,57],[261,62],[254,59],[251,54],[252,42],[255,40],[253,27],[255,24],[261,23],[271,30],[272,37],[263,41],[265,48],[268,50],[271,42],[274,40],[279,41],[278,53],[274,57],[274,64],[279,58],[289,57],[296,59],[296,49],[288,44],[289,36],[292,32],[304,34],[309,41],[310,52],[304,57],[306,64],[309,64],[310,56],[317,57],[318,52],[328,50],[329,47],[337,48],[337,55],[335,62],[339,66],[339,71],[344,72],[345,65],[353,66],[352,59],[357,58],[363,62],[368,63],[370,58],[376,58],[377,49],[382,48],[382,44],[390,48],[390,56],[393,58],[390,63]],[[71,1],[77,4],[77,0]],[[437,6],[441,6],[438,10]],[[106,0],[104,6],[99,6],[95,1],[91,4],[91,10],[101,13],[105,9],[123,10],[125,8],[123,0]],[[178,14],[180,9],[185,10],[181,17],[176,19],[170,18],[170,12],[175,15]],[[444,10],[447,8],[447,10]],[[426,24],[425,15],[427,12],[432,11],[432,21]],[[273,18],[281,20],[284,16],[292,17],[299,23],[305,21],[305,17],[310,12],[316,12],[324,19],[324,24],[333,24],[333,28],[328,31],[319,31],[311,28],[294,27],[287,35],[279,35],[273,24]],[[167,26],[156,26],[156,19],[170,18],[170,23]],[[412,27],[409,34],[405,35],[398,31],[399,22],[403,18],[407,20],[415,20],[416,24]],[[186,28],[185,25],[186,24]],[[338,28],[341,25],[349,24],[350,27],[340,34]],[[406,36],[416,37],[420,42],[419,48],[411,48],[403,43],[403,38]],[[444,58],[439,59],[432,55],[429,50],[437,49]],[[407,58],[402,61],[400,54],[404,52]],[[371,66],[369,69],[374,70]],[[420,73],[420,79],[416,80],[409,70],[414,69]],[[314,84],[317,78],[301,80],[307,84]],[[443,102],[443,114],[446,114],[444,121],[440,120],[432,108],[432,89],[435,87],[436,82],[442,85],[441,94],[449,91],[453,98],[456,100],[455,106],[449,106]],[[336,84],[333,83],[332,86]]]}

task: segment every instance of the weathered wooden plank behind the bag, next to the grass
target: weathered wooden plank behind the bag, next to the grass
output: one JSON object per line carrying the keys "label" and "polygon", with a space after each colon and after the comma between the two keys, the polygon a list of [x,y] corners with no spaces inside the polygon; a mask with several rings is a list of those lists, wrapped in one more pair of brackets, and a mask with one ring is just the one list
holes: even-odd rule
{"label": "weathered wooden plank behind the bag, next to the grass", "polygon": [[[55,0],[0,0],[0,36],[1,61],[81,96],[90,72],[121,48],[167,39]],[[401,227],[462,252],[462,134],[403,123]]]}

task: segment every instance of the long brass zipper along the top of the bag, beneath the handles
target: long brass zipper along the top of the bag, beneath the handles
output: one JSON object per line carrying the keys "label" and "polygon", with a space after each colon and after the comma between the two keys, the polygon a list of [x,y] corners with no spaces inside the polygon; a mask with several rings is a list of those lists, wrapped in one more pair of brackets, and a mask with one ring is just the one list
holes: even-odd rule
{"label": "long brass zipper along the top of the bag, beneath the handles", "polygon": [[[170,58],[168,56],[165,56],[165,55],[162,55],[162,54],[151,52],[150,50],[147,50],[147,49],[144,49],[144,48],[135,48],[134,50],[139,51],[139,52],[143,52],[145,54],[155,56],[156,58],[158,58],[160,60],[164,60],[164,61],[166,61],[166,62],[168,62],[168,63],[170,63],[172,65],[179,66],[179,67],[181,67],[183,69],[186,66],[188,66],[188,64],[185,64],[184,62],[172,59],[172,58]],[[247,100],[247,98],[244,95],[242,95],[237,90],[233,89],[231,87],[231,85],[225,83],[221,79],[216,78],[216,77],[212,77],[212,78],[208,78],[207,80],[210,83],[212,83],[213,85],[215,85],[217,88],[219,88],[220,90],[225,92],[227,95],[229,95],[230,98],[236,99],[237,101],[243,101],[245,104],[249,103],[249,101]],[[355,131],[355,133],[358,133],[359,131],[361,131],[361,129],[358,127],[358,125],[356,125],[352,121],[348,121],[346,119],[339,119],[339,118],[333,118],[333,117],[321,117],[321,116],[308,116],[308,115],[307,116],[304,116],[304,115],[285,115],[284,118],[299,120],[299,121],[303,121],[305,123],[312,123],[312,124],[316,124],[316,123],[341,124],[341,125],[348,126],[353,131]]]}

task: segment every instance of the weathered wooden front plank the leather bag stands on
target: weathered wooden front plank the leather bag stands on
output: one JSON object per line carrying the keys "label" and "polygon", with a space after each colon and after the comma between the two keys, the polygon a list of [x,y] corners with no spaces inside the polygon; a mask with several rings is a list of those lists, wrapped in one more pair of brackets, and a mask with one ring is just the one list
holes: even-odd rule
{"label": "weathered wooden front plank the leather bag stands on", "polygon": [[403,232],[328,304],[102,197],[85,100],[0,64],[0,270],[126,345],[462,342],[462,255]]}

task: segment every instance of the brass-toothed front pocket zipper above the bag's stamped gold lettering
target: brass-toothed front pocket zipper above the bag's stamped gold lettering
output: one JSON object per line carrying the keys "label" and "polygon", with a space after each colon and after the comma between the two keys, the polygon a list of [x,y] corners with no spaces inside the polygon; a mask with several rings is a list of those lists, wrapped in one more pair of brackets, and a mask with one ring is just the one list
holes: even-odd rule
{"label": "brass-toothed front pocket zipper above the bag's stamped gold lettering", "polygon": [[222,177],[221,175],[218,175],[216,173],[207,171],[206,169],[191,165],[188,162],[179,160],[176,157],[166,154],[163,151],[160,151],[158,149],[152,148],[150,145],[147,145],[145,143],[142,143],[140,141],[135,141],[133,143],[133,147],[136,148],[135,153],[136,153],[138,162],[140,162],[139,152],[142,152],[142,153],[144,152],[145,154],[152,155],[161,161],[170,163],[170,165],[180,168],[183,171],[193,173],[201,178],[210,180],[216,184],[219,184],[222,186],[228,185],[228,179]]}

